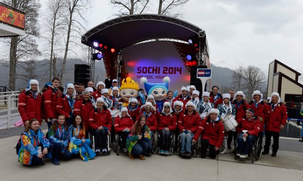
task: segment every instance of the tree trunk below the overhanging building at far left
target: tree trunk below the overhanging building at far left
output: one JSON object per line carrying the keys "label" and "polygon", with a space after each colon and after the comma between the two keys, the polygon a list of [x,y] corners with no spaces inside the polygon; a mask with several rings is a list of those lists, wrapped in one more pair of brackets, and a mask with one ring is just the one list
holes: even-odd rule
{"label": "tree trunk below the overhanging building at far left", "polygon": [[8,84],[9,88],[12,90],[15,90],[16,87],[17,43],[18,37],[12,37],[10,45],[10,74]]}

